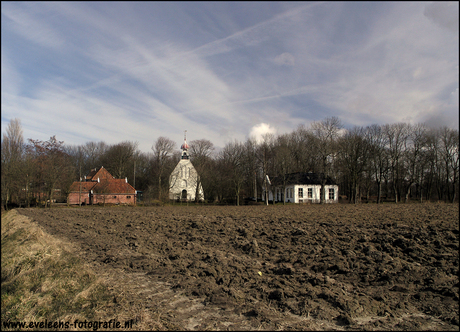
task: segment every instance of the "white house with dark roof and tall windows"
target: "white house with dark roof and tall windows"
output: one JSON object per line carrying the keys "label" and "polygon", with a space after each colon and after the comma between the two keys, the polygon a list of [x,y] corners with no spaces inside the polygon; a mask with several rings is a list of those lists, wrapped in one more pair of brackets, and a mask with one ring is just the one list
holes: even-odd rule
{"label": "white house with dark roof and tall windows", "polygon": [[[284,185],[283,185],[284,182]],[[286,178],[274,178],[271,190],[268,191],[268,200],[286,203],[320,203],[321,178],[316,173],[291,173]],[[326,203],[338,203],[339,186],[330,178],[326,178],[324,186]],[[264,189],[265,191],[265,189]],[[275,197],[273,197],[275,196]],[[265,197],[265,193],[262,197]]]}

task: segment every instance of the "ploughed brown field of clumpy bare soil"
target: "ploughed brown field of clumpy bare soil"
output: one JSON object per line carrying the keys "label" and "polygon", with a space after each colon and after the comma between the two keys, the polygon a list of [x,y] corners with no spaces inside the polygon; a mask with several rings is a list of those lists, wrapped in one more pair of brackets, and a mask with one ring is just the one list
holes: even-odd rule
{"label": "ploughed brown field of clumpy bare soil", "polygon": [[18,212],[176,329],[459,329],[458,205]]}

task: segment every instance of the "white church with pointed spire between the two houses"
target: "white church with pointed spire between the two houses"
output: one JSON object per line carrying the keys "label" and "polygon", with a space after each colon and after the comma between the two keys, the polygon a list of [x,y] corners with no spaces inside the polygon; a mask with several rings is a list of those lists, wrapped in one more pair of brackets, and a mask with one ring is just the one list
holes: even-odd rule
{"label": "white church with pointed spire between the two houses", "polygon": [[190,148],[184,135],[184,144],[181,145],[182,155],[179,163],[169,176],[169,199],[194,201],[198,194],[198,200],[204,200],[203,187],[201,182],[198,185],[198,173],[193,167],[188,154]]}

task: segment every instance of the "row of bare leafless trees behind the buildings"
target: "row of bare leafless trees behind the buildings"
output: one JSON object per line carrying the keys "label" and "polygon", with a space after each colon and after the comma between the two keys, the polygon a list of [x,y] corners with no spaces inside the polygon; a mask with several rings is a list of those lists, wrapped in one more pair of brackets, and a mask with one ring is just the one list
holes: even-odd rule
{"label": "row of bare leafless trees behind the buildings", "polygon": [[[317,173],[324,183],[331,177],[350,203],[458,201],[459,136],[448,127],[394,123],[344,129],[337,117],[328,117],[287,134],[234,140],[219,151],[207,139],[189,145],[207,202],[260,200],[266,175],[284,186],[286,174],[296,172]],[[169,175],[181,157],[176,142],[163,136],[148,153],[131,141],[66,145],[52,136],[25,142],[19,119],[10,121],[1,149],[5,208],[65,202],[72,182],[101,166],[115,178],[127,178],[145,204],[166,201]]]}

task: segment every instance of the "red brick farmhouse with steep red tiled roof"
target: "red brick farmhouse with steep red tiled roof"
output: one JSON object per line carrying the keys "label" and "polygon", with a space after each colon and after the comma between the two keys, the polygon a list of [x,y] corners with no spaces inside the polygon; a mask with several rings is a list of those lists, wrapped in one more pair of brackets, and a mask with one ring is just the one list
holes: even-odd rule
{"label": "red brick farmhouse with steep red tiled roof", "polygon": [[136,189],[128,179],[115,179],[104,167],[70,186],[68,204],[136,204]]}

